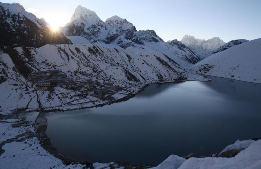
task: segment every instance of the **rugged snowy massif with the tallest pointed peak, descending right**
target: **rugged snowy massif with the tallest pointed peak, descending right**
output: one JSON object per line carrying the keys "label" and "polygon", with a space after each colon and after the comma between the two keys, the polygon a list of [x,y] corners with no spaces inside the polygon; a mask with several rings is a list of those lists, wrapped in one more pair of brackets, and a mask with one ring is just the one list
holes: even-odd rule
{"label": "rugged snowy massif with the tallest pointed peak, descending right", "polygon": [[68,38],[82,36],[91,43],[112,44],[121,48],[135,47],[157,50],[184,67],[190,67],[199,58],[188,48],[164,42],[153,30],[136,30],[126,19],[112,16],[103,22],[95,12],[78,6],[65,27]]}

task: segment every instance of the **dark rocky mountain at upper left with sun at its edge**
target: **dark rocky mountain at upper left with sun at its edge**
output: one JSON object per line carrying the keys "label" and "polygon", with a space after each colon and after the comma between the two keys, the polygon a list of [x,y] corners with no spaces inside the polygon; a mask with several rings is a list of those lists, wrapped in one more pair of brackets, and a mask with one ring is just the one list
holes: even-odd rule
{"label": "dark rocky mountain at upper left with sun at its edge", "polygon": [[69,44],[63,33],[52,32],[49,24],[28,13],[19,3],[0,3],[0,45],[40,47]]}

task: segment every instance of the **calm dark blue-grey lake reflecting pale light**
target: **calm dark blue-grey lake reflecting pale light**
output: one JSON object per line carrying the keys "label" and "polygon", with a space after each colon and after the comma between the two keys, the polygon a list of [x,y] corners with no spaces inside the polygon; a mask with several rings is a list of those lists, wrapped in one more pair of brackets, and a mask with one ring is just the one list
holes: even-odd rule
{"label": "calm dark blue-grey lake reflecting pale light", "polygon": [[70,159],[137,165],[171,154],[209,156],[261,137],[261,85],[211,79],[152,84],[122,103],[46,113],[46,133]]}

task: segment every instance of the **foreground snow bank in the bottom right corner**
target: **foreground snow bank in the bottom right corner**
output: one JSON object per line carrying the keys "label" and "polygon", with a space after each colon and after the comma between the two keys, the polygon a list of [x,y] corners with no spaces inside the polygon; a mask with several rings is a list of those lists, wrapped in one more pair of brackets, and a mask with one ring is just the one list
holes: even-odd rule
{"label": "foreground snow bank in the bottom right corner", "polygon": [[238,155],[231,158],[206,157],[206,158],[189,158],[188,160],[177,155],[169,156],[157,167],[153,169],[260,169],[261,168],[261,140],[243,140],[236,141],[234,144],[227,146],[223,151],[246,148]]}

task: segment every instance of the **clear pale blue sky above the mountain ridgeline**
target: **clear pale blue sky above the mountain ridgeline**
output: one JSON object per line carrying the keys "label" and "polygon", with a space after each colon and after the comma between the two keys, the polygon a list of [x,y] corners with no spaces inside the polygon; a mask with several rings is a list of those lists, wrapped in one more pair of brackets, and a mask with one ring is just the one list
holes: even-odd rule
{"label": "clear pale blue sky above the mountain ridgeline", "polygon": [[[13,3],[14,0],[1,0]],[[63,26],[81,5],[105,21],[117,15],[137,30],[152,29],[163,40],[215,36],[225,42],[261,38],[261,0],[16,0],[38,18]]]}

